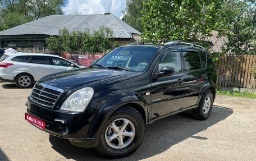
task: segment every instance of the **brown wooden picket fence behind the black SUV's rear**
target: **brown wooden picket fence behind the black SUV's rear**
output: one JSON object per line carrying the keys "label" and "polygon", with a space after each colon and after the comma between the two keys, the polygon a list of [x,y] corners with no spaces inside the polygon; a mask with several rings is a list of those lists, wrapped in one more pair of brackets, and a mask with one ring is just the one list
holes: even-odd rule
{"label": "brown wooden picket fence behind the black SUV's rear", "polygon": [[218,68],[218,85],[225,87],[256,89],[253,70],[256,55],[232,55],[221,57],[216,62]]}

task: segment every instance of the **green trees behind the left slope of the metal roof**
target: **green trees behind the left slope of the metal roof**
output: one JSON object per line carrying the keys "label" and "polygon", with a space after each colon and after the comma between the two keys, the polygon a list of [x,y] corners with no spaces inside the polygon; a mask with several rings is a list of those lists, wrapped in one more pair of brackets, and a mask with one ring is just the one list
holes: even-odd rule
{"label": "green trees behind the left slope of the metal roof", "polygon": [[49,15],[62,15],[65,0],[0,0],[0,31]]}

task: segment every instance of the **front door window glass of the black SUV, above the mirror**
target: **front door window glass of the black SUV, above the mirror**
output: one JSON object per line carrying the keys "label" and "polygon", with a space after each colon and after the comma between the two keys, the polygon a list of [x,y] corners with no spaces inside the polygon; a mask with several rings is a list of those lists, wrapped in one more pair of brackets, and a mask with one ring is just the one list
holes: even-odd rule
{"label": "front door window glass of the black SUV, above the mirror", "polygon": [[181,57],[178,50],[168,51],[163,54],[158,62],[158,70],[162,67],[173,67],[175,73],[181,72]]}

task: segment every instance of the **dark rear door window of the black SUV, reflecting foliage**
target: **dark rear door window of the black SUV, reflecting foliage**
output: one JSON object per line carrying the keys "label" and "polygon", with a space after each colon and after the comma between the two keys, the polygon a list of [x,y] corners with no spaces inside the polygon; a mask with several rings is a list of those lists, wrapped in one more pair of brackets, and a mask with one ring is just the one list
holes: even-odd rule
{"label": "dark rear door window of the black SUV, reflecting foliage", "polygon": [[185,71],[198,70],[202,68],[199,53],[196,51],[184,52]]}

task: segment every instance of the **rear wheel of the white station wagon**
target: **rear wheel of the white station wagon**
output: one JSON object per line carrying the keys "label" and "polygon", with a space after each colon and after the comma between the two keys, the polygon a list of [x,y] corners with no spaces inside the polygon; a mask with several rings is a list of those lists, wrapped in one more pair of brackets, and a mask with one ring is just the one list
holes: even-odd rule
{"label": "rear wheel of the white station wagon", "polygon": [[15,83],[19,88],[30,88],[33,82],[33,77],[27,73],[20,73],[15,79]]}

